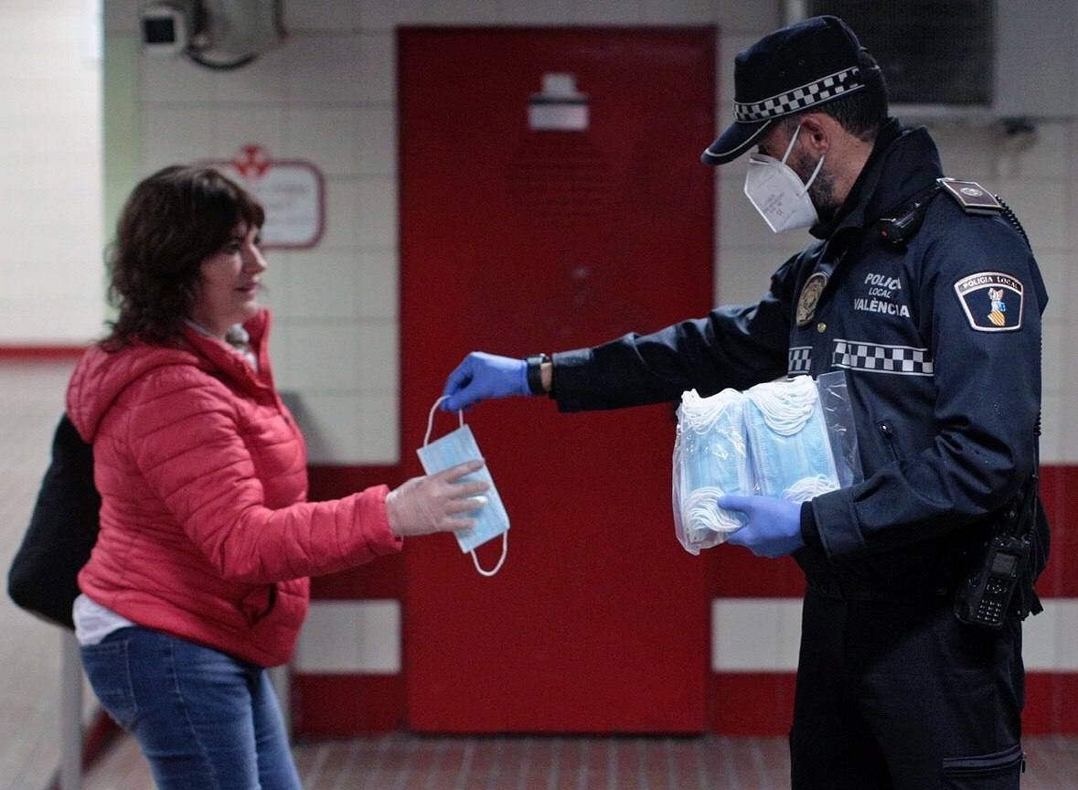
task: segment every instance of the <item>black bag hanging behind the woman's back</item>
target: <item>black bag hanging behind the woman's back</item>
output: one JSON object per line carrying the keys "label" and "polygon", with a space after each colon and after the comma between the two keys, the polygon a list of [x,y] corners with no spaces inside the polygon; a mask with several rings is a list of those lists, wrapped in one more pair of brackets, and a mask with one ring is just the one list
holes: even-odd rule
{"label": "black bag hanging behind the woman's back", "polygon": [[30,526],[8,571],[8,594],[31,614],[74,628],[75,581],[97,542],[101,497],[94,487],[94,451],[65,414],[53,436],[53,460]]}

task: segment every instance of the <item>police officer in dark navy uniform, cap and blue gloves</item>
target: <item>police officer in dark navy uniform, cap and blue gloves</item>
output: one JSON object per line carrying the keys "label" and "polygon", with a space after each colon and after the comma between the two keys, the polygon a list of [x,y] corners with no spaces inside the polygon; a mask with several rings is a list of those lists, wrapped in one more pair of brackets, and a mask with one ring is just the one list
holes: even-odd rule
{"label": "police officer in dark navy uniform, cap and blue gloves", "polygon": [[[771,230],[816,240],[752,305],[552,360],[471,354],[443,407],[549,392],[562,411],[616,408],[845,371],[863,482],[804,504],[720,500],[748,516],[731,543],[805,572],[792,786],[1017,788],[1032,583],[998,629],[959,622],[954,599],[1036,471],[1037,264],[991,194],[940,180],[927,130],[888,117],[841,19],[770,33],[734,81],[734,122],[703,161],[749,154],[745,193]],[[1036,521],[1026,580],[1047,551]]]}

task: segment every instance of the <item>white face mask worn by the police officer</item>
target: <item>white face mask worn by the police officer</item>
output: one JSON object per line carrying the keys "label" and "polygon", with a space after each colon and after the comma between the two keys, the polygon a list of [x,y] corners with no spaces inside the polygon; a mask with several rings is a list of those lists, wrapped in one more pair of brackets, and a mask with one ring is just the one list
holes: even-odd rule
{"label": "white face mask worn by the police officer", "polygon": [[806,184],[801,183],[801,178],[786,164],[800,131],[801,124],[798,124],[782,162],[765,154],[750,154],[748,157],[745,196],[775,233],[812,227],[819,221],[816,207],[808,196],[808,188],[819,175],[824,157],[819,157]]}

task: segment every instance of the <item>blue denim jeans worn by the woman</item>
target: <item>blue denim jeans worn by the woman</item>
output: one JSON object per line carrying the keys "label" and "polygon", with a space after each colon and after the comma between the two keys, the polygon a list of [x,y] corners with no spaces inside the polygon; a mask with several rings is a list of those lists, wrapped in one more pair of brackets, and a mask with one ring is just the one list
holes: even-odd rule
{"label": "blue denim jeans worn by the woman", "polygon": [[301,788],[262,667],[137,626],[83,647],[82,665],[161,790]]}

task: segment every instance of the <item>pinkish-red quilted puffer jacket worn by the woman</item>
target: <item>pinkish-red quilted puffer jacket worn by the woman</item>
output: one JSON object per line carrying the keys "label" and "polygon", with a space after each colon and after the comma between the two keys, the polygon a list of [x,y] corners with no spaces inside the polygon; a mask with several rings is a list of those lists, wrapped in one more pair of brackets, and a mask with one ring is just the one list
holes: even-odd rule
{"label": "pinkish-red quilted puffer jacket worn by the woman", "polygon": [[401,548],[385,486],[305,501],[306,451],[274,389],[268,327],[264,310],[245,324],[259,373],[188,329],[179,348],[91,348],[67,393],[101,494],[79,586],[139,625],[262,666],[291,655],[307,577]]}

